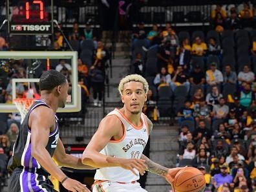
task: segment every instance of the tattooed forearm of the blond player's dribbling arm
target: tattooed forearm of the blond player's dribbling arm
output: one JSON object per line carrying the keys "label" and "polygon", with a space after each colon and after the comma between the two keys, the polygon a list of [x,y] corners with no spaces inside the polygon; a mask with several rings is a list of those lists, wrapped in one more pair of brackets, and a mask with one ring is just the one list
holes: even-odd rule
{"label": "tattooed forearm of the blond player's dribbling arm", "polygon": [[156,164],[155,162],[147,158],[147,156],[145,155],[142,155],[140,158],[145,160],[145,165],[147,165],[147,171],[160,176],[165,176],[167,174],[168,168]]}

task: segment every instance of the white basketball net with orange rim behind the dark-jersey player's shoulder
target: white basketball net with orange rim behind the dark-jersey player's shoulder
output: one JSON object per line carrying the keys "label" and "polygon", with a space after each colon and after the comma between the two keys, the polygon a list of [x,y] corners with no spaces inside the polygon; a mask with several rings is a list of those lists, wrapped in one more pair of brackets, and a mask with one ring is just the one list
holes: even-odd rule
{"label": "white basketball net with orange rim behind the dark-jersey player's shoulder", "polygon": [[25,116],[34,101],[34,98],[17,98],[14,100],[14,103],[21,114],[21,123],[25,119]]}

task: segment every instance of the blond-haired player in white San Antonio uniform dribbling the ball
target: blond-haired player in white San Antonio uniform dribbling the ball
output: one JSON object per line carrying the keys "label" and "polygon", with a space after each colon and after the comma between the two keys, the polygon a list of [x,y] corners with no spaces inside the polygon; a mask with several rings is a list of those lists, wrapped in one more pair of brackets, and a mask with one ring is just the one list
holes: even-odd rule
{"label": "blond-haired player in white San Antonio uniform dribbling the ball", "polygon": [[140,75],[120,81],[122,109],[114,109],[101,120],[98,131],[83,152],[82,162],[99,167],[93,192],[145,192],[136,182],[145,171],[164,176],[172,184],[182,168],[168,169],[142,154],[153,123],[142,113],[149,85]]}

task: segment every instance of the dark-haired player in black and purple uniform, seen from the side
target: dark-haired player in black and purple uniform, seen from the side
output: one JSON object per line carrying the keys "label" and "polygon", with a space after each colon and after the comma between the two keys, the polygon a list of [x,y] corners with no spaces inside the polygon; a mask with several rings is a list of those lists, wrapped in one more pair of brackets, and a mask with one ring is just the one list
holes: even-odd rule
{"label": "dark-haired player in black and purple uniform, seen from the side", "polygon": [[76,158],[65,153],[59,139],[58,107],[65,107],[69,83],[56,70],[44,72],[39,81],[41,100],[30,107],[14,145],[8,169],[13,171],[8,192],[55,191],[49,175],[54,176],[69,191],[89,191],[76,180],[68,178],[54,163],[76,169],[91,169]]}

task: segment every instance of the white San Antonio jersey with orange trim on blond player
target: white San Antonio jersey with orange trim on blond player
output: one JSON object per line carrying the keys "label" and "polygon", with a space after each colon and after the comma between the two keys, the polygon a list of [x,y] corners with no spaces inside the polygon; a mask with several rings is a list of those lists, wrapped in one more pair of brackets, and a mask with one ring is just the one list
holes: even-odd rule
{"label": "white San Antonio jersey with orange trim on blond player", "polygon": [[[117,116],[124,125],[123,137],[120,140],[111,140],[100,151],[103,155],[115,156],[117,158],[140,158],[149,138],[147,116],[141,114],[141,127],[136,127],[131,123],[118,109],[107,114],[107,116]],[[136,173],[139,175],[137,170]],[[94,176],[95,180],[109,180],[112,182],[133,182],[140,178],[133,172],[123,169],[122,167],[104,167],[97,169]]]}

